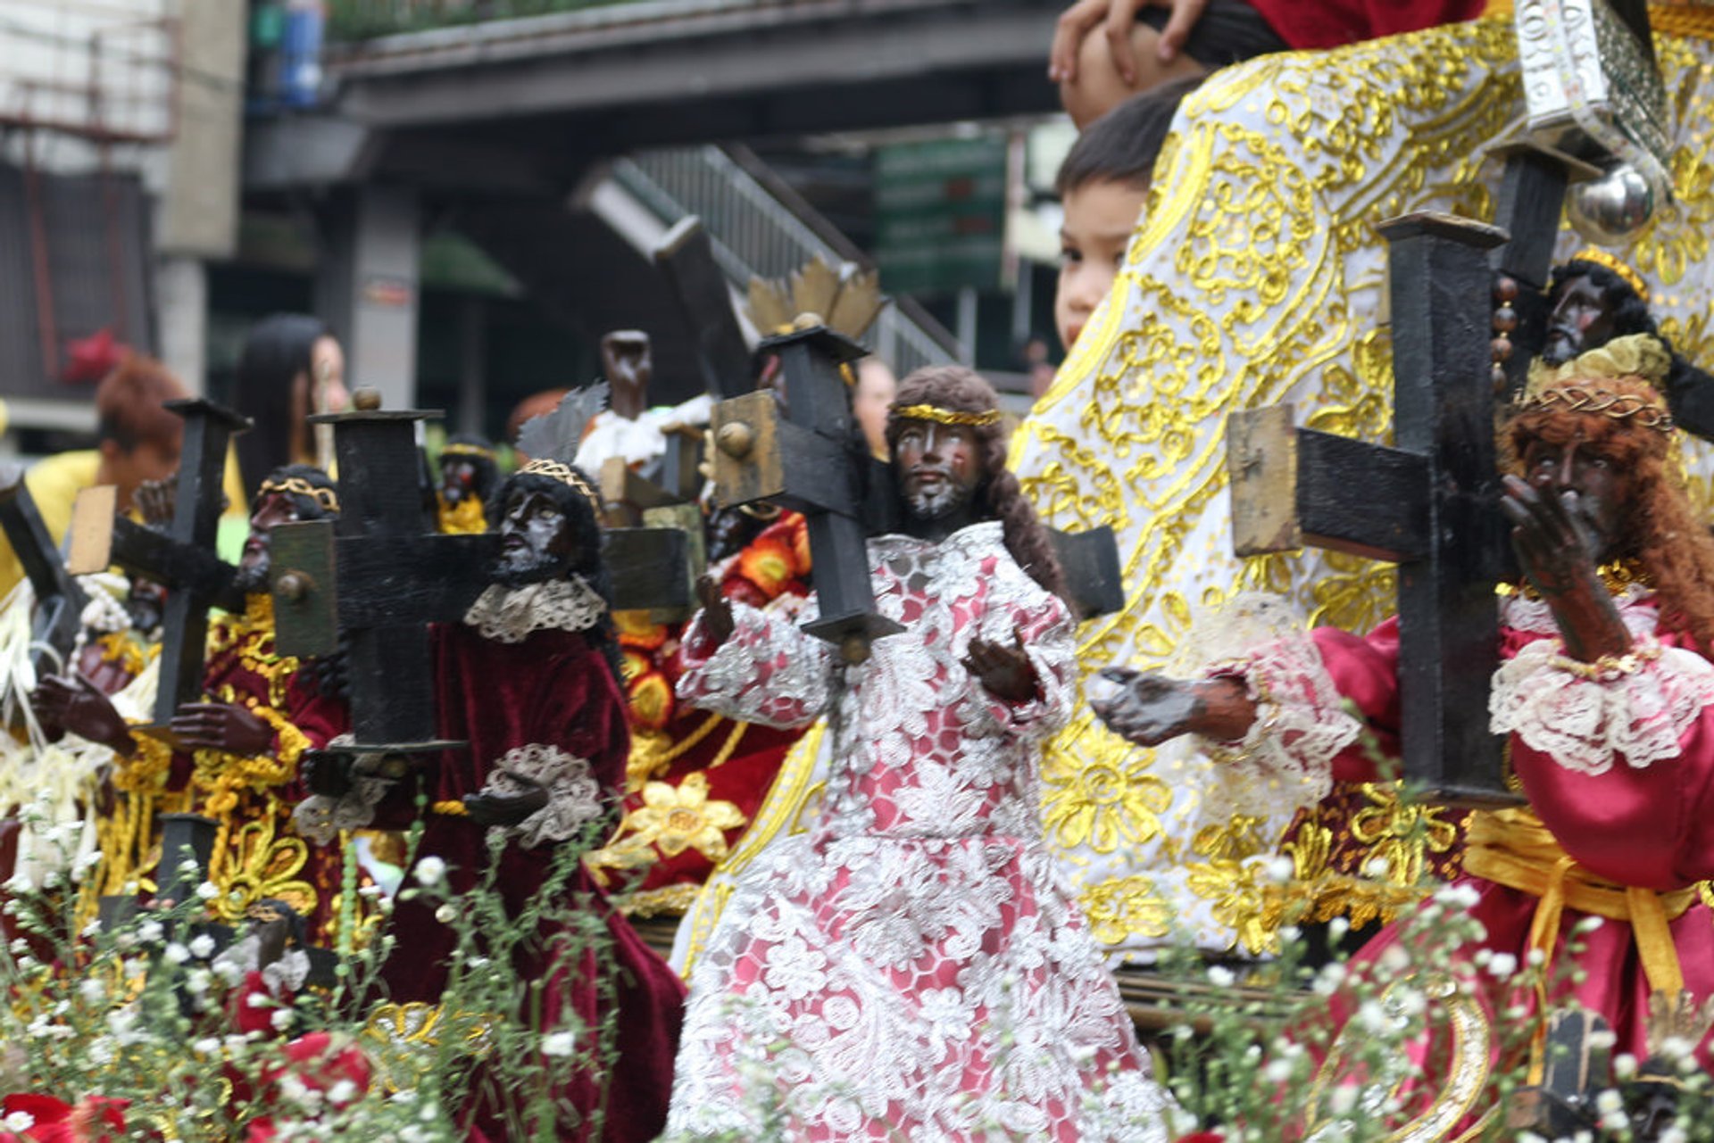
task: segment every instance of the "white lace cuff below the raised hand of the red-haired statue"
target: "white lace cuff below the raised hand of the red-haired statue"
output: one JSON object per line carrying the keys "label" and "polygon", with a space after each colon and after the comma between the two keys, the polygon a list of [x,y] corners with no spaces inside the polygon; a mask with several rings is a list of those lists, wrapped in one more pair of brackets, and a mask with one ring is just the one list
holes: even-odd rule
{"label": "white lace cuff below the raised hand of the red-haired statue", "polygon": [[1604,775],[1618,754],[1633,769],[1681,754],[1681,739],[1714,703],[1714,665],[1693,651],[1639,639],[1630,655],[1585,665],[1558,639],[1537,639],[1495,672],[1489,728],[1515,733],[1560,766]]}

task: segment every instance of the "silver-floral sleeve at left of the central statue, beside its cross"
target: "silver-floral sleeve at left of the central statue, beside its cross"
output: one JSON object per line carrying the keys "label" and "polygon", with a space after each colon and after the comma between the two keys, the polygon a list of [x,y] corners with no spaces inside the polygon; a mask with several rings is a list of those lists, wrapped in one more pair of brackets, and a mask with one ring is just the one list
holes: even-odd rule
{"label": "silver-floral sleeve at left of the central statue, beside its cross", "polygon": [[[814,598],[799,619],[814,615]],[[684,675],[679,697],[763,727],[806,727],[833,692],[833,648],[795,622],[746,603],[732,605],[732,637],[713,655],[698,655],[703,613],[684,632]]]}

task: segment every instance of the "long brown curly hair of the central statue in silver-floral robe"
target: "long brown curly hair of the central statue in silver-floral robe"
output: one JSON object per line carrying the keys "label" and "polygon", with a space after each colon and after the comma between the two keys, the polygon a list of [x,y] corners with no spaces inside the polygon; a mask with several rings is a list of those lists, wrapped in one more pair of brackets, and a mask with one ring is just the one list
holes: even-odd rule
{"label": "long brown curly hair of the central statue in silver-floral robe", "polygon": [[[929,408],[941,416],[903,416],[917,408]],[[970,418],[977,423],[967,423]],[[1054,555],[1047,530],[1035,516],[1035,507],[1023,499],[1018,478],[1006,468],[1006,430],[999,420],[999,398],[980,374],[963,365],[926,365],[898,382],[898,396],[886,413],[886,446],[896,447],[898,434],[908,420],[936,420],[939,423],[965,423],[982,449],[987,480],[977,492],[982,516],[1003,524],[1006,550],[1030,579],[1054,595],[1063,595],[1059,559]]]}

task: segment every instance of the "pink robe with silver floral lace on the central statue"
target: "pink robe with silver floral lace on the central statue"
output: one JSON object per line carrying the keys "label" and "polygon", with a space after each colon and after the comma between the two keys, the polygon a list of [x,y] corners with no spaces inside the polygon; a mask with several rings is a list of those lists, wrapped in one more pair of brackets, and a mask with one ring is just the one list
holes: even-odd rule
{"label": "pink robe with silver floral lace on the central statue", "polygon": [[[905,631],[860,667],[744,607],[711,656],[699,625],[686,639],[684,699],[782,727],[828,709],[836,745],[821,824],[740,874],[696,963],[668,1134],[1164,1140],[1167,1097],[1037,817],[1075,685],[1064,607],[998,523],[883,536],[869,560]],[[1039,685],[1011,704],[962,658],[1015,634]]]}

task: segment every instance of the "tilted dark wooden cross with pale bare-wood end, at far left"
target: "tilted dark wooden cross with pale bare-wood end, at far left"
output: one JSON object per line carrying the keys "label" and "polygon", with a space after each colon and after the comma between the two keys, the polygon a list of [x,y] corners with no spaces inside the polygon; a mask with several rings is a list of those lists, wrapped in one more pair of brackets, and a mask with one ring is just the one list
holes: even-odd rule
{"label": "tilted dark wooden cross with pale bare-wood end, at far left", "polygon": [[65,560],[77,576],[118,564],[166,588],[156,727],[171,721],[180,704],[202,697],[209,608],[243,610],[243,593],[233,584],[238,569],[219,559],[216,536],[226,511],[221,492],[226,447],[250,427],[249,416],[201,398],[168,401],[166,408],[185,418],[173,523],[165,533],[144,528],[117,514],[111,485],[86,488],[72,509],[72,548]]}

